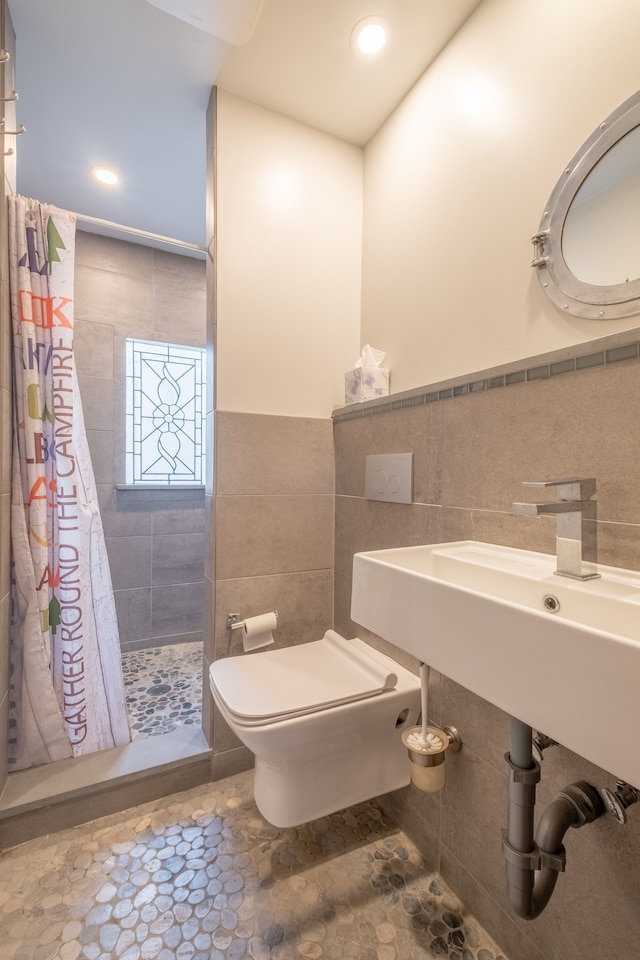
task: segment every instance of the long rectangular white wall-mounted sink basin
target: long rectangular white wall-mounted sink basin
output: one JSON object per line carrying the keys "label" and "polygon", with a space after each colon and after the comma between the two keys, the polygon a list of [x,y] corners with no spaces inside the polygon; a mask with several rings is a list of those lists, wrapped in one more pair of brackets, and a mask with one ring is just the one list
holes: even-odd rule
{"label": "long rectangular white wall-mounted sink basin", "polygon": [[357,553],[351,618],[639,787],[640,573],[555,568],[471,540]]}

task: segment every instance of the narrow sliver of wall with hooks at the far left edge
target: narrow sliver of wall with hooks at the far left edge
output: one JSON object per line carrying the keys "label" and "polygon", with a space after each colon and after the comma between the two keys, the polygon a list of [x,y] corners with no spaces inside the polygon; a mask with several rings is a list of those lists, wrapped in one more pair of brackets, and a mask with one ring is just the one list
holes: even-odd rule
{"label": "narrow sliver of wall with hooks at the far left edge", "polygon": [[[2,96],[14,88],[15,36],[6,0],[0,3],[0,38],[11,59],[0,72]],[[9,130],[15,130],[14,103],[3,104]],[[5,137],[4,149],[14,147],[14,138]],[[15,156],[0,156],[2,204],[0,204],[0,743],[9,736],[9,625],[11,608],[10,496],[11,496],[11,308],[7,259],[7,197],[15,193]],[[0,791],[7,778],[7,752],[0,750]]]}

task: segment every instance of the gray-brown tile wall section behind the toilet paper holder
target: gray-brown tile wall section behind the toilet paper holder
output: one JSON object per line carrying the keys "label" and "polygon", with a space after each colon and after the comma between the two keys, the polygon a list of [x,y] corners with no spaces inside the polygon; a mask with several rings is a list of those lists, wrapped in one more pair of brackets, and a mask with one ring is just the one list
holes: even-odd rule
{"label": "gray-brown tile wall section behind the toilet paper holder", "polygon": [[[331,421],[218,411],[215,463],[209,662],[243,652],[229,613],[277,610],[269,649],[319,640],[333,624]],[[240,747],[219,716],[213,745],[218,761]]]}

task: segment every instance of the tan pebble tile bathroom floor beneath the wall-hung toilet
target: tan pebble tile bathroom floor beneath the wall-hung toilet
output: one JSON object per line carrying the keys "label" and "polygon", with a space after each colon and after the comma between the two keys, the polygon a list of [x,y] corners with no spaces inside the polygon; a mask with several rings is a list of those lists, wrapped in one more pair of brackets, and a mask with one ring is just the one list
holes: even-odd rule
{"label": "tan pebble tile bathroom floor beneath the wall-hung toilet", "polygon": [[506,960],[375,801],[279,830],[251,772],[0,854],[2,960]]}

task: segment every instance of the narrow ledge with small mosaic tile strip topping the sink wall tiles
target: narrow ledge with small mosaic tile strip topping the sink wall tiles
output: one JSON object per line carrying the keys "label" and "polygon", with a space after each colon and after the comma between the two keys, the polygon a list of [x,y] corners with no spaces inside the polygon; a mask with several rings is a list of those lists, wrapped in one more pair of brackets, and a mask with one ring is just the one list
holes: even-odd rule
{"label": "narrow ledge with small mosaic tile strip topping the sink wall tiles", "polygon": [[497,387],[548,380],[565,373],[580,373],[624,360],[637,360],[639,356],[640,328],[624,330],[549,353],[508,361],[476,373],[461,374],[426,386],[413,387],[376,400],[338,407],[333,411],[332,419],[338,423],[356,420],[377,413],[390,413],[439,400],[484,393]]}

